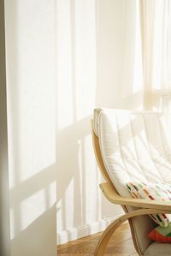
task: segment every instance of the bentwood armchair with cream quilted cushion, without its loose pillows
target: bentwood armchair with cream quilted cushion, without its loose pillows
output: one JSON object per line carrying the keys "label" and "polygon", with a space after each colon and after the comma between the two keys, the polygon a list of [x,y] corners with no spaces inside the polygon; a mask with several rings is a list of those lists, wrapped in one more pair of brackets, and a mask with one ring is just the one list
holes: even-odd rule
{"label": "bentwood armchair with cream quilted cushion, without its loose pillows", "polygon": [[[151,125],[151,122],[150,124],[148,124],[148,126],[146,125],[146,122],[152,119],[155,122],[155,123],[152,122],[154,125],[158,123],[158,125],[161,126],[162,125],[161,122],[164,122],[163,118],[164,117],[162,116],[161,113],[153,113],[153,112],[150,113],[150,112],[137,112],[137,111],[126,111],[126,110],[99,110],[99,109],[95,110],[93,120],[91,120],[91,134],[92,134],[92,141],[94,146],[94,152],[97,159],[97,164],[105,180],[104,183],[100,184],[100,188],[104,196],[106,197],[106,199],[108,199],[111,203],[115,205],[121,205],[122,209],[125,212],[125,214],[122,217],[119,217],[113,223],[110,223],[109,227],[103,232],[103,235],[98,241],[96,252],[94,254],[95,256],[104,255],[105,249],[108,245],[111,235],[113,235],[115,230],[127,220],[130,224],[134,247],[136,248],[136,251],[137,253],[139,253],[140,256],[171,255],[170,244],[162,244],[162,243],[160,244],[154,241],[150,241],[150,239],[147,237],[148,232],[150,232],[150,230],[155,227],[155,223],[150,219],[148,215],[153,213],[171,213],[171,203],[149,201],[145,199],[133,199],[133,198],[127,197],[127,193],[126,193],[126,196],[124,196],[123,195],[124,193],[122,193],[122,190],[120,190],[120,183],[118,182],[120,181],[120,178],[121,178],[120,175],[123,175],[123,176],[126,175],[127,166],[129,166],[126,162],[127,161],[130,162],[130,157],[133,156],[132,153],[131,154],[129,153],[130,152],[129,144],[131,143],[131,140],[134,140],[133,142],[134,149],[136,148],[136,151],[139,151],[139,153],[140,153],[140,150],[142,150],[141,142],[144,144],[144,148],[147,148],[147,146],[148,147],[152,146],[154,134],[151,134],[151,130],[149,127],[149,125]],[[121,126],[118,124],[119,122],[121,122]],[[130,125],[132,130],[131,132],[130,132]],[[138,127],[139,131],[137,130],[137,128],[134,128],[133,126]],[[133,134],[133,129],[134,129],[134,134]],[[160,127],[160,132],[164,133],[162,134],[162,140],[167,140],[165,131],[161,127]],[[120,136],[118,134],[120,134]],[[144,134],[147,138],[147,141],[144,141],[142,139],[142,138],[145,138],[143,136]],[[156,132],[156,136],[157,135],[158,134]],[[137,136],[137,141],[142,140],[141,142],[139,142],[140,144],[138,142],[135,142],[135,138],[133,139],[133,136]],[[150,136],[152,136],[152,138],[150,138]],[[115,150],[115,143],[118,142],[115,140],[116,137],[118,137],[118,140],[120,140],[119,141],[120,146],[117,148],[117,150]],[[114,141],[111,141],[111,140],[114,140]],[[165,141],[164,142],[162,141],[162,146],[164,143]],[[122,146],[121,144],[124,144],[123,148],[121,148]],[[139,148],[136,146],[139,146]],[[136,178],[139,176],[139,179],[141,179],[141,176],[145,176],[145,179],[150,182],[151,181],[156,182],[160,180],[160,176],[158,175],[158,173],[156,174],[156,176],[154,176],[154,173],[148,170],[149,165],[151,168],[151,166],[155,164],[153,153],[156,152],[156,145],[154,147],[155,147],[154,152],[150,150],[150,157],[146,156],[146,158],[144,159],[143,158],[137,159],[138,160],[137,164],[139,164],[140,169],[143,169],[143,171],[140,174],[140,176],[137,173],[135,173]],[[165,156],[163,156],[163,152],[162,152],[162,157],[166,160],[165,162],[166,169],[162,171],[164,173],[168,171],[168,176],[167,177],[165,176],[166,180],[162,178],[162,182],[163,181],[169,182],[170,181],[169,179],[171,177],[171,164],[170,164],[171,159],[169,159],[169,155],[171,154],[169,154],[169,152],[171,151],[170,151],[170,148],[168,147],[168,142],[163,147],[165,147],[165,150],[164,150]],[[159,156],[161,153],[160,149],[161,149],[161,146],[158,146]],[[107,154],[105,152],[107,152]],[[147,154],[149,153],[148,150],[146,153]],[[137,156],[138,158],[138,153],[134,154],[134,157],[135,156]],[[118,163],[115,164],[115,162],[117,162],[119,158],[121,158],[120,160],[123,160],[125,158],[127,159],[127,161],[125,160],[125,163],[122,164],[122,168],[120,169],[119,178],[118,178],[116,167],[119,165]],[[151,159],[151,163],[148,162],[150,161],[149,159]],[[158,159],[160,158],[157,158],[157,161]],[[145,160],[146,161],[148,160],[147,162],[149,163],[149,165],[148,163],[146,164],[143,163],[143,161]],[[132,162],[132,164],[133,163],[134,161]],[[160,172],[159,167],[160,167],[160,164],[157,165],[158,172]],[[170,170],[169,170],[169,167],[170,167]],[[147,170],[145,170],[145,168]],[[155,172],[156,170],[154,169],[152,171]],[[132,170],[132,173],[133,173],[133,170]],[[134,176],[133,175],[131,176],[130,173],[128,173],[128,176],[130,176],[130,179],[133,181]]]}

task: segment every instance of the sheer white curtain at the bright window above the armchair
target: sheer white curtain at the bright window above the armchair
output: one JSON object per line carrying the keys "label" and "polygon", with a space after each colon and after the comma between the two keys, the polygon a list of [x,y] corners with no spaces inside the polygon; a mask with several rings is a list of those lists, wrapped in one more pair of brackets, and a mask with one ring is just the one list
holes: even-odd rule
{"label": "sheer white curtain at the bright window above the armchair", "polygon": [[151,109],[158,106],[161,95],[171,92],[171,1],[142,0],[139,3],[144,108]]}

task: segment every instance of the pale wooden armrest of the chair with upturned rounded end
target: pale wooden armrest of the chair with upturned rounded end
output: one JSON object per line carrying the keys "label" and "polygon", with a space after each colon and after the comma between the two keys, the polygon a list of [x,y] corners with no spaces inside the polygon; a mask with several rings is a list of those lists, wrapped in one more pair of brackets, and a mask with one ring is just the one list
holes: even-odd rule
{"label": "pale wooden armrest of the chair with upturned rounded end", "polygon": [[100,184],[100,188],[103,191],[105,197],[115,205],[127,205],[145,209],[148,208],[162,211],[171,211],[171,201],[161,202],[156,200],[124,198],[115,192],[114,188],[112,188],[109,182]]}

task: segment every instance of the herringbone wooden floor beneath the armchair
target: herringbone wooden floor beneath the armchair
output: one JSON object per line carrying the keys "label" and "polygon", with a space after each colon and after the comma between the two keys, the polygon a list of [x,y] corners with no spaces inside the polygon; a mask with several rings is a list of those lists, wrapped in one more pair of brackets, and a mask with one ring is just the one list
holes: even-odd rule
{"label": "herringbone wooden floor beneath the armchair", "polygon": [[[97,241],[102,233],[89,235],[76,241],[70,241],[67,244],[57,247],[58,256],[92,256]],[[109,241],[109,246],[106,249],[107,256],[138,256],[133,247],[133,240],[129,230],[128,223],[124,223],[115,232]]]}

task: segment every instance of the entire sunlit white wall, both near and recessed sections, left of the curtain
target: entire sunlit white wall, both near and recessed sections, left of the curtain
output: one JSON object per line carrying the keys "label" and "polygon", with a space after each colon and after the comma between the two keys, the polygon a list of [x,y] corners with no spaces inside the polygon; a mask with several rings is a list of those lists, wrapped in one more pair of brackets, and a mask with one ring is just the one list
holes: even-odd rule
{"label": "entire sunlit white wall, both near and recessed sections, left of the curtain", "polygon": [[54,3],[6,1],[14,256],[55,255],[56,180],[59,242],[100,231],[121,214],[98,188],[90,118],[96,106],[142,107],[141,60],[133,47],[138,2]]}

